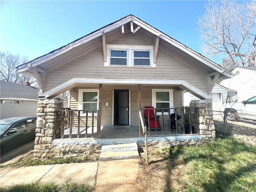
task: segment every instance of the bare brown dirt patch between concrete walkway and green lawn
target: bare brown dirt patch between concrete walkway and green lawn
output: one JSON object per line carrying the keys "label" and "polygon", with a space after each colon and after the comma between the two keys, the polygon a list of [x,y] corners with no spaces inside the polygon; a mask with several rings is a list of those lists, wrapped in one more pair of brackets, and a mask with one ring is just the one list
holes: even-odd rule
{"label": "bare brown dirt patch between concrete walkway and green lawn", "polygon": [[149,148],[149,166],[146,166],[146,154],[141,154],[138,174],[139,192],[163,192],[175,188],[182,191],[181,180],[186,180],[184,174],[189,165],[185,164],[182,158],[167,160],[164,156],[166,152],[161,148]]}

